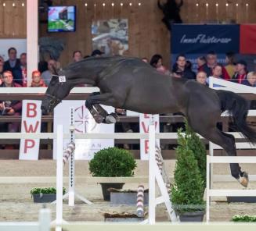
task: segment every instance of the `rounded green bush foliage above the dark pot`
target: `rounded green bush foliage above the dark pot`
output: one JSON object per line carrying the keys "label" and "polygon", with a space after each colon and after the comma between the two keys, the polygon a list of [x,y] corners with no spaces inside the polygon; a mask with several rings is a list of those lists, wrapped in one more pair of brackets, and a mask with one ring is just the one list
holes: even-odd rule
{"label": "rounded green bush foliage above the dark pot", "polygon": [[89,162],[92,176],[133,176],[136,166],[132,154],[117,147],[109,147],[96,152]]}

